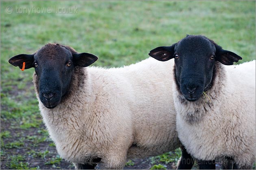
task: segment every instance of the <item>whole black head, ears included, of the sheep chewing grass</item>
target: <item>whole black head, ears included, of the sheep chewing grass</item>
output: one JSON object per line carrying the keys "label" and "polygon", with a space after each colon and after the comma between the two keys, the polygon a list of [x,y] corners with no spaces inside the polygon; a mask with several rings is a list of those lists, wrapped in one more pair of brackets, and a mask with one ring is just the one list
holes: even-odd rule
{"label": "whole black head, ears included, of the sheep chewing grass", "polygon": [[175,60],[176,84],[188,101],[196,101],[210,87],[215,62],[232,65],[242,58],[204,36],[187,36],[169,47],[149,53],[159,61]]}

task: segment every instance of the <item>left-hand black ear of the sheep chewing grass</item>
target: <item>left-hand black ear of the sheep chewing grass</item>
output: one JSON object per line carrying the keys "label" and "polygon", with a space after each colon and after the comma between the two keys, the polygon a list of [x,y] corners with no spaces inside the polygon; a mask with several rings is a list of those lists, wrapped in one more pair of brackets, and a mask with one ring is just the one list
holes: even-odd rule
{"label": "left-hand black ear of the sheep chewing grass", "polygon": [[171,46],[162,46],[152,49],[148,55],[159,60],[161,62],[165,62],[174,58],[174,47],[176,44]]}

